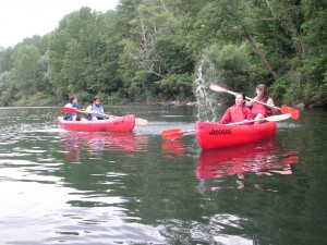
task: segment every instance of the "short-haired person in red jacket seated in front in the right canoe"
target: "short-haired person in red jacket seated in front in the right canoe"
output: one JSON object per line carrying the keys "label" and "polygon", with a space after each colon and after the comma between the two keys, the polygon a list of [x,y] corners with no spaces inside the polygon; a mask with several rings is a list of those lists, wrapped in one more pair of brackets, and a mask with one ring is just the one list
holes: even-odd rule
{"label": "short-haired person in red jacket seated in front in the right canoe", "polygon": [[235,105],[228,108],[218,122],[219,124],[243,122],[243,124],[252,124],[246,121],[253,120],[251,110],[244,105],[245,95],[243,93],[237,93]]}

